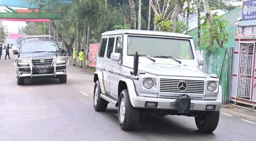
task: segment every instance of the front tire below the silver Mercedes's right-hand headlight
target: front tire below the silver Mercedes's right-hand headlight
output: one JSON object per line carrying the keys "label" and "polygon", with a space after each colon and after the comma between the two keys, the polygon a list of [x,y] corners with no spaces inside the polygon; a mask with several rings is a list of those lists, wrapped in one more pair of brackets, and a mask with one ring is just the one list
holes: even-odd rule
{"label": "front tire below the silver Mercedes's right-hand headlight", "polygon": [[195,117],[196,127],[202,132],[213,132],[220,118],[220,111],[207,111],[202,116]]}

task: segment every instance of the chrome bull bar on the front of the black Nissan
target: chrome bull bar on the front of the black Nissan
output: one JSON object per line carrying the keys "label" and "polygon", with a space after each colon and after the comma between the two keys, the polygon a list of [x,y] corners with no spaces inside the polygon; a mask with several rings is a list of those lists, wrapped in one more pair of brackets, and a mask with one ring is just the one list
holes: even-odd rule
{"label": "chrome bull bar on the front of the black Nissan", "polygon": [[[56,61],[57,61],[58,58],[65,58],[65,59],[67,59],[66,64],[64,64],[64,65],[56,65]],[[53,59],[53,67],[54,67],[54,71],[53,72],[54,72],[54,74],[35,74],[35,75],[33,75],[32,59]],[[27,67],[18,67],[18,61],[19,60],[26,60],[28,62],[29,66],[27,66]],[[56,78],[56,67],[61,67],[61,66],[69,65],[69,57],[67,57],[67,56],[59,56],[59,57],[54,56],[54,57],[39,57],[39,58],[32,58],[32,57],[30,57],[30,58],[21,58],[21,59],[20,58],[16,58],[14,60],[14,65],[15,65],[16,68],[30,68],[30,78],[33,78],[33,76],[50,76],[50,75],[54,75],[54,78]]]}

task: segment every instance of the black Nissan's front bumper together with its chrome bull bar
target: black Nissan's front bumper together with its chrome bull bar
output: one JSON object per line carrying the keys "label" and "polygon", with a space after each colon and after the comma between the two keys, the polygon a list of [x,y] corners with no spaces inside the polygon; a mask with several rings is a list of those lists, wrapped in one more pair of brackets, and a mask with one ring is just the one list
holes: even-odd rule
{"label": "black Nissan's front bumper together with its chrome bull bar", "polygon": [[[67,62],[64,65],[56,65],[56,60],[58,58],[66,58]],[[69,65],[69,60],[67,56],[60,56],[60,57],[43,57],[43,58],[33,58],[33,59],[53,59],[53,63],[52,66],[37,66],[34,67],[33,63],[32,63],[32,58],[23,58],[23,59],[15,59],[14,61],[14,65],[17,68],[17,74],[16,77],[19,78],[38,78],[38,77],[54,77],[54,78],[58,78],[59,75],[66,75],[67,74],[67,69],[66,66]],[[17,65],[18,60],[30,60],[29,66],[27,67],[19,67]],[[43,68],[43,69],[47,69],[48,73],[38,73],[38,69]],[[26,69],[26,71],[20,71],[20,70],[24,70]],[[28,71],[29,70],[29,71]]]}

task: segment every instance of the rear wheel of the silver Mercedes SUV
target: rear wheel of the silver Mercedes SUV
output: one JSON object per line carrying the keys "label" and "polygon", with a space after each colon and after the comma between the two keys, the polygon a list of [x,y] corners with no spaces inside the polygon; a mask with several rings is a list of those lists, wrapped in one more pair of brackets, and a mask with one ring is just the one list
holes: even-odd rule
{"label": "rear wheel of the silver Mercedes SUV", "polygon": [[[93,106],[95,111],[105,111],[108,106],[108,102],[100,97],[101,89],[100,89],[100,82],[99,80],[96,81],[94,85],[94,91],[93,91]],[[96,97],[95,97],[96,94]],[[96,100],[95,100],[96,98]]]}

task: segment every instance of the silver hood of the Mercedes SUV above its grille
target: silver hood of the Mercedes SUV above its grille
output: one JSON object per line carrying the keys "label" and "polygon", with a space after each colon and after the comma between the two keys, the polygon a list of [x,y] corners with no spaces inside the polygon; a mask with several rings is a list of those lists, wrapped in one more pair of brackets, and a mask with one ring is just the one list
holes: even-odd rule
{"label": "silver hood of the Mercedes SUV above its grille", "polygon": [[[133,68],[133,63],[125,65]],[[184,65],[169,65],[169,64],[155,64],[155,63],[139,63],[138,70],[143,70],[147,73],[155,75],[169,75],[169,76],[191,76],[206,78],[206,75],[198,67],[184,66]]]}

